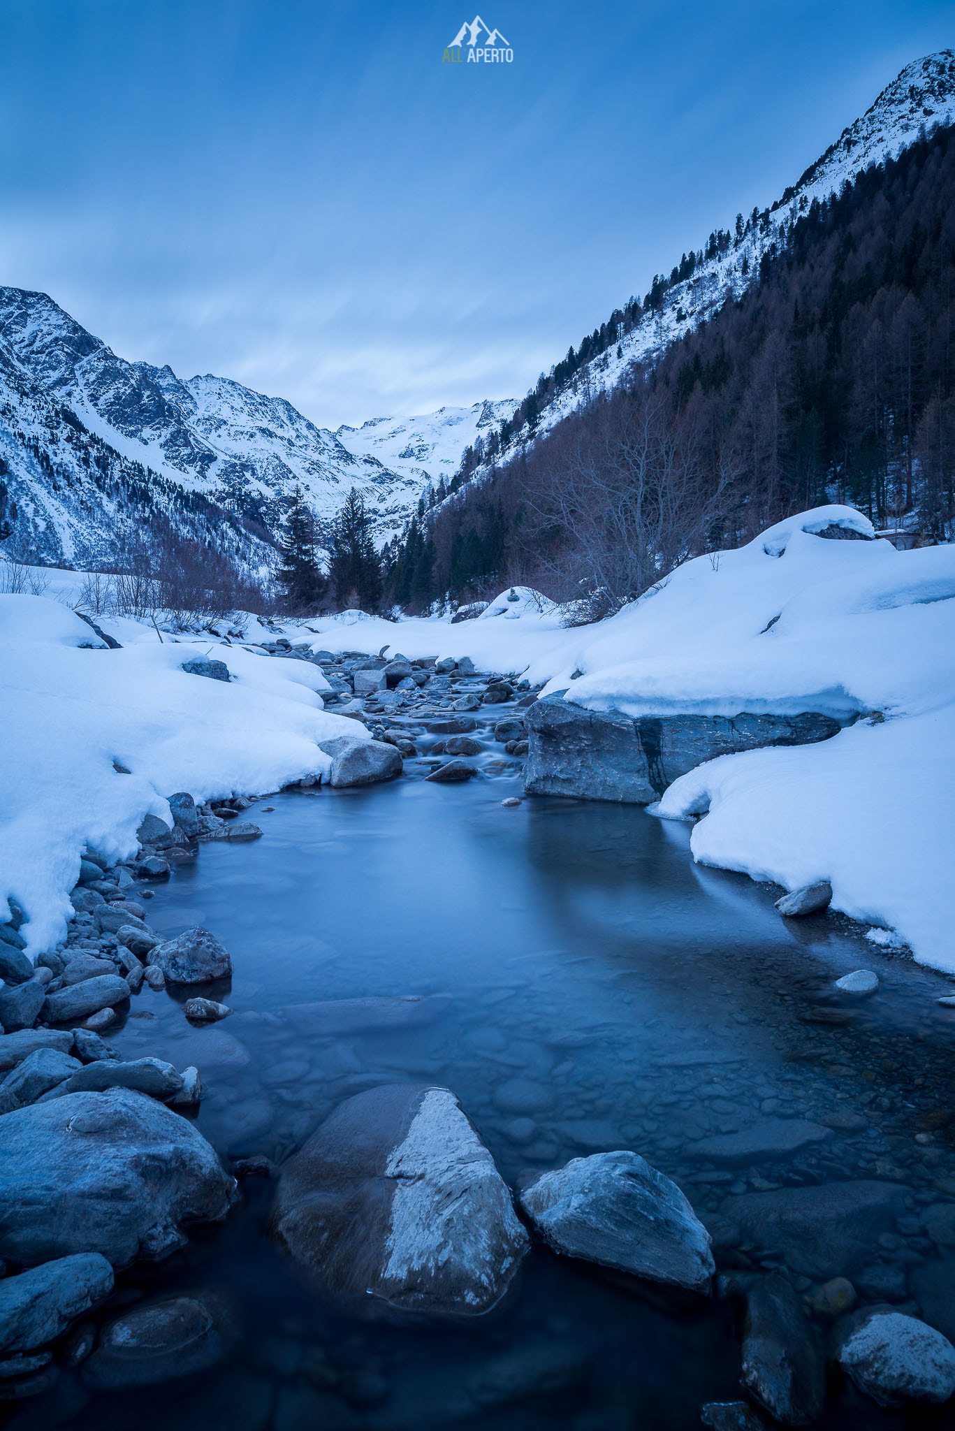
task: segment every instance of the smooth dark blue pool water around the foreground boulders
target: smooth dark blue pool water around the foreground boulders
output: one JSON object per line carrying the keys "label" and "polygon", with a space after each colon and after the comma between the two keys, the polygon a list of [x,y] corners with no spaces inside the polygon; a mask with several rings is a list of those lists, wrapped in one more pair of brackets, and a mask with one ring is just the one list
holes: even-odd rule
{"label": "smooth dark blue pool water around the foreground boulders", "polygon": [[[626,1146],[673,1176],[704,1222],[732,1192],[846,1176],[905,1181],[913,1218],[955,1196],[948,1133],[916,1139],[949,1096],[952,1015],[934,1002],[944,980],[836,919],[785,923],[772,890],[694,866],[683,824],[554,798],[503,809],[520,793],[513,764],[467,786],[408,770],[389,786],[262,800],[249,814],[263,840],[203,846],[150,904],[163,933],[203,923],[223,940],[235,976],[213,993],[236,1012],[190,1029],[176,997],[146,990],[112,1040],[127,1058],[199,1065],[199,1128],[225,1159],[281,1163],[341,1099],[414,1079],[454,1089],[510,1181]],[[876,997],[833,1003],[832,980],[861,966],[879,973]],[[427,1027],[325,1040],[276,1016],[407,993],[452,1002]],[[723,1172],[692,1152],[760,1113],[846,1112],[861,1130],[785,1165]],[[150,1295],[220,1289],[241,1327],[233,1358],[135,1392],[90,1395],[67,1375],[17,1425],[677,1431],[699,1425],[704,1401],[739,1395],[726,1304],[659,1304],[540,1248],[480,1325],[342,1318],[268,1242],[273,1185],[241,1188],[228,1224],[120,1279]],[[924,1238],[902,1251],[903,1275],[938,1256]],[[873,1249],[883,1266],[898,1256]],[[949,1422],[842,1391],[826,1424]]]}

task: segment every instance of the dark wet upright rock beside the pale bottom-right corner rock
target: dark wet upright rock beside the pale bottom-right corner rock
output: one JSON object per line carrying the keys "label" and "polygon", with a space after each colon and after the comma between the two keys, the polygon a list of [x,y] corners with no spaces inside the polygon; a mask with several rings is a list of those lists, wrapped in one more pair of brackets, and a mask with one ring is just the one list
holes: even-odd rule
{"label": "dark wet upright rock beside the pale bottom-right corner rock", "polygon": [[822,1344],[782,1276],[760,1278],[746,1296],[740,1382],[783,1425],[809,1425],[822,1414]]}

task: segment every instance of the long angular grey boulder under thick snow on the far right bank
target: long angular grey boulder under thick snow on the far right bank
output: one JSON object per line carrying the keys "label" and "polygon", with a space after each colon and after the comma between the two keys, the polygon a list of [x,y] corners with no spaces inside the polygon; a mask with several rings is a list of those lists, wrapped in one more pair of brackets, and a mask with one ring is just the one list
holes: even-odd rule
{"label": "long angular grey boulder under thick snow on the far right bank", "polygon": [[802,716],[624,716],[588,711],[546,695],[524,717],[530,794],[577,796],[650,804],[679,776],[714,756],[760,746],[808,746],[839,733],[839,723]]}

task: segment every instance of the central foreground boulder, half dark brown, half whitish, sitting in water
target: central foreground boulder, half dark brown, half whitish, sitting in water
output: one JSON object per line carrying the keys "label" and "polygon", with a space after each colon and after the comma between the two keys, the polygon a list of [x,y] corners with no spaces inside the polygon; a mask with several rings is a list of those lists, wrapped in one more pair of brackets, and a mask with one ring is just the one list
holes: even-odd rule
{"label": "central foreground boulder, half dark brown, half whitish, sitting in water", "polygon": [[407,1083],[322,1123],[286,1163],[272,1232],[325,1292],[437,1318],[490,1311],[530,1246],[454,1093]]}

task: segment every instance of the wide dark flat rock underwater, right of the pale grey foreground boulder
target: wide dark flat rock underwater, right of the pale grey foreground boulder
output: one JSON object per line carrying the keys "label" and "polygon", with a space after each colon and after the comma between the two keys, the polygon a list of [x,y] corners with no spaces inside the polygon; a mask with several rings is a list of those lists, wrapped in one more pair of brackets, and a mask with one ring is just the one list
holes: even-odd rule
{"label": "wide dark flat rock underwater, right of the pale grey foreground boulder", "polygon": [[872,1261],[883,1232],[905,1216],[906,1189],[866,1179],[724,1198],[710,1232],[717,1246],[753,1244],[782,1254],[813,1282],[850,1276]]}

